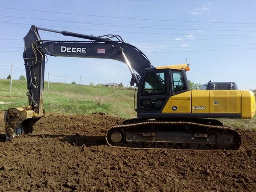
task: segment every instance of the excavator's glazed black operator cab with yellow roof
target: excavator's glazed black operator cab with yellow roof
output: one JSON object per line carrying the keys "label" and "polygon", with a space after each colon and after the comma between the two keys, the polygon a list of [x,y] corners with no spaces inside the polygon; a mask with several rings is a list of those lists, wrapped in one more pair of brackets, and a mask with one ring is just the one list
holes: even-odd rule
{"label": "excavator's glazed black operator cab with yellow roof", "polygon": [[146,69],[139,84],[138,116],[162,113],[170,97],[189,91],[187,70],[189,70],[187,64]]}

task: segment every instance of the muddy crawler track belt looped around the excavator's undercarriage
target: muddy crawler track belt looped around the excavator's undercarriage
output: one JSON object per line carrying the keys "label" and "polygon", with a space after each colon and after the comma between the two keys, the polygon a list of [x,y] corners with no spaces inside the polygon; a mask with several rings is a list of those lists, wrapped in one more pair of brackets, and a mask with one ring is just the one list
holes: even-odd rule
{"label": "muddy crawler track belt looped around the excavator's undercarriage", "polygon": [[[134,122],[137,123],[132,123],[134,120]],[[196,123],[196,122],[184,122],[184,121],[171,121],[171,122],[166,122],[166,121],[154,121],[154,120],[147,120],[147,119],[141,119],[143,120],[143,122],[139,122],[138,123],[137,118],[134,119],[128,119],[128,121],[125,121],[128,124],[125,125],[117,125],[117,126],[113,126],[106,135],[106,140],[108,145],[114,146],[114,147],[122,147],[122,148],[136,148],[136,149],[150,149],[150,148],[179,148],[179,149],[216,149],[216,145],[205,145],[205,144],[197,144],[195,146],[195,144],[192,144],[193,146],[191,146],[190,143],[157,143],[157,142],[152,142],[152,143],[136,143],[136,142],[131,142],[131,143],[112,143],[109,142],[110,140],[110,136],[111,133],[113,131],[122,131],[125,134],[125,129],[132,129],[132,128],[137,128],[140,127],[142,125],[192,125],[192,126],[196,126],[199,129],[204,128],[207,131],[212,130],[215,132],[218,132],[219,134],[223,133],[223,132],[227,132],[230,131],[236,140],[235,145],[233,146],[233,148],[228,148],[228,149],[238,149],[239,146],[241,145],[241,136],[239,135],[239,133],[234,130],[233,128],[230,127],[226,127],[226,126],[221,126],[221,125],[209,125],[209,124],[202,124],[202,123]],[[205,120],[205,119],[204,119]],[[215,119],[213,119],[215,120]],[[219,121],[216,120],[217,123],[219,124]],[[205,122],[205,121],[203,121]],[[214,122],[214,121],[213,121]],[[125,138],[124,138],[125,140]],[[217,144],[218,145],[218,144]],[[220,147],[221,148],[221,147]]]}

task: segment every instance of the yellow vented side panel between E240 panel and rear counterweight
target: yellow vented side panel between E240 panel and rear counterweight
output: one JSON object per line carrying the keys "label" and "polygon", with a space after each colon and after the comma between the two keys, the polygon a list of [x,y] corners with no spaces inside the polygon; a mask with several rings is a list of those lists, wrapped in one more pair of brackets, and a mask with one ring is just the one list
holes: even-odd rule
{"label": "yellow vented side panel between E240 panel and rear counterweight", "polygon": [[241,113],[241,90],[210,90],[210,113]]}

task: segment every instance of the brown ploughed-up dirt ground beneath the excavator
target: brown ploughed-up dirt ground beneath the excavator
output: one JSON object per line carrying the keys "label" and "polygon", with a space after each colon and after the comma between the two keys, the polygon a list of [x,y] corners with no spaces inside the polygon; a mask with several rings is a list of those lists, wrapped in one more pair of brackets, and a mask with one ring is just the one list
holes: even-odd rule
{"label": "brown ploughed-up dirt ground beneath the excavator", "polygon": [[5,142],[3,114],[1,192],[256,192],[256,131],[239,131],[239,150],[133,150],[106,145],[122,119],[47,113]]}

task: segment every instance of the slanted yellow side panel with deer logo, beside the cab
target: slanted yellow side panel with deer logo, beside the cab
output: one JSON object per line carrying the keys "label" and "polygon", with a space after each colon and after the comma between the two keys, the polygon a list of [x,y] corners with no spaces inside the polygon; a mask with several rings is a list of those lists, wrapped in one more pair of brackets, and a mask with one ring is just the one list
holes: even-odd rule
{"label": "slanted yellow side panel with deer logo, beside the cab", "polygon": [[[176,107],[177,110],[173,110]],[[191,112],[191,94],[190,91],[180,93],[169,98],[162,113],[190,113]]]}

